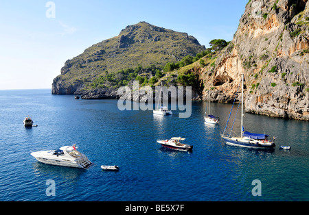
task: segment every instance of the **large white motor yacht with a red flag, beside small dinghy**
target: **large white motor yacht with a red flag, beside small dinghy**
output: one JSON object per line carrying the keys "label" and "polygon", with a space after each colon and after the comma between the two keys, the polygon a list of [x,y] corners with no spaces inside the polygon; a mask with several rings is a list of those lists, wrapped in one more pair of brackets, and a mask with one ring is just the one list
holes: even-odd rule
{"label": "large white motor yacht with a red flag, beside small dinghy", "polygon": [[86,155],[76,149],[76,144],[73,144],[73,146],[65,146],[57,150],[32,152],[31,155],[39,162],[56,166],[89,168],[93,165]]}

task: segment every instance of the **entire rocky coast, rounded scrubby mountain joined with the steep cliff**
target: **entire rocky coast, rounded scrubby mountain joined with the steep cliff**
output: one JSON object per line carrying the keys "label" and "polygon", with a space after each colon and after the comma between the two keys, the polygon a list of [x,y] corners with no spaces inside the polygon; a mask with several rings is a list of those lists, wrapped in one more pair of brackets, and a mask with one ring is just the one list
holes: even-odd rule
{"label": "entire rocky coast, rounded scrubby mountain joined with the steep cliff", "polygon": [[114,80],[130,86],[139,79],[150,86],[194,85],[192,99],[209,95],[228,103],[242,74],[247,112],[309,121],[308,0],[250,0],[233,40],[220,49],[205,49],[192,36],[148,23],[130,25],[65,62],[52,93],[119,98]]}

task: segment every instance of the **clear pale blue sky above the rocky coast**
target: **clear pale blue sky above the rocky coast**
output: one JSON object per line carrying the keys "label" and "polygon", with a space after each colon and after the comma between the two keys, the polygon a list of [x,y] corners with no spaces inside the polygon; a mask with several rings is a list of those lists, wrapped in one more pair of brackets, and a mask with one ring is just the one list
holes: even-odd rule
{"label": "clear pale blue sky above the rocky coast", "polygon": [[65,61],[127,25],[230,41],[248,0],[0,0],[0,90],[52,88]]}

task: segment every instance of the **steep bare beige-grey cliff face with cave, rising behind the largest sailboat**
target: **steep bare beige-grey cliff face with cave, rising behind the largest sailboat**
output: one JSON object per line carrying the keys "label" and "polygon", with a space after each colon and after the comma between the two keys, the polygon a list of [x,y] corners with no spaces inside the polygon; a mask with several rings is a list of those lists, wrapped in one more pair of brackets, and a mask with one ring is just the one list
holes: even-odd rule
{"label": "steep bare beige-grey cliff face with cave, rising behind the largest sailboat", "polygon": [[247,112],[309,121],[308,35],[308,0],[249,1],[215,67],[201,69],[203,98],[232,101],[244,74]]}

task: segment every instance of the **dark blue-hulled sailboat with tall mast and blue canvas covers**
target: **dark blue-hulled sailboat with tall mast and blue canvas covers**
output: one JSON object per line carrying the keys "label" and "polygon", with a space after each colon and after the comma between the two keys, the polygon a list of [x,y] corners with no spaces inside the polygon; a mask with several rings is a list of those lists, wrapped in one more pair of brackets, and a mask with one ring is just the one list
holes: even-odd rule
{"label": "dark blue-hulled sailboat with tall mast and blue canvas covers", "polygon": [[[237,94],[236,94],[237,97]],[[234,103],[236,100],[234,99]],[[234,105],[233,103],[233,105]],[[242,109],[242,116],[241,116],[241,127],[240,127],[240,136],[231,136],[225,135],[225,130],[227,129],[227,125],[225,126],[225,130],[223,131],[222,138],[227,142],[227,144],[239,146],[239,147],[249,147],[249,148],[258,148],[258,149],[273,149],[275,148],[275,138],[273,140],[268,140],[267,134],[255,134],[249,131],[244,131],[243,121],[242,118],[243,114],[243,103],[244,103],[244,75],[242,75],[242,102],[241,102],[241,109]],[[231,112],[233,110],[233,106],[231,108]],[[229,114],[229,118],[231,116],[231,112]],[[237,114],[236,114],[237,116]],[[235,116],[235,118],[236,118]],[[235,120],[234,120],[235,122]],[[229,119],[227,120],[227,124],[229,123]],[[231,131],[233,130],[233,127]]]}

